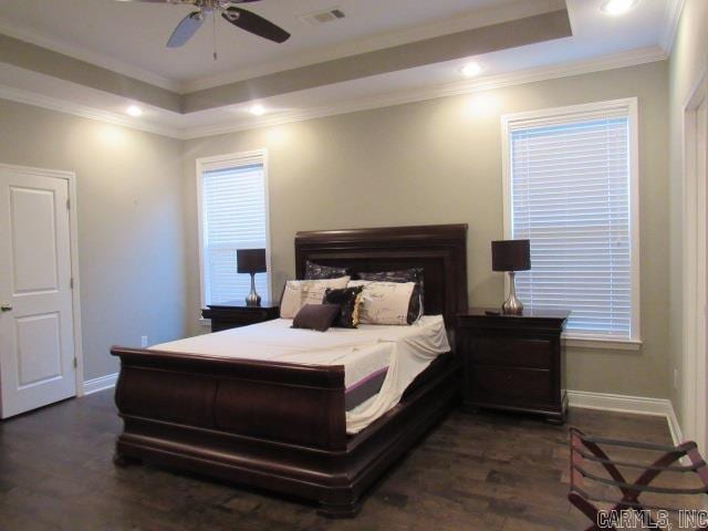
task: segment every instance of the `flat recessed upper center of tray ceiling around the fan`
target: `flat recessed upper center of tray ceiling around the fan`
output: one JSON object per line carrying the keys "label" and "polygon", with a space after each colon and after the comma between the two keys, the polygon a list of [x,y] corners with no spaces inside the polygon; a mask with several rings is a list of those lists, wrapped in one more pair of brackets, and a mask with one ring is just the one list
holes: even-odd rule
{"label": "flat recessed upper center of tray ceiling around the fan", "polygon": [[[489,20],[483,11],[514,2],[518,0],[261,0],[248,9],[287,29],[292,38],[275,44],[219,19],[218,61],[211,56],[210,23],[205,23],[184,48],[165,48],[173,29],[194,11],[189,6],[116,0],[3,0],[0,21],[6,28],[41,35],[60,51],[84,51],[170,82],[195,83],[225,74],[250,77],[449,32],[450,27],[464,29],[457,19],[473,13],[478,13],[483,24]],[[300,19],[333,7],[346,18],[320,25]],[[473,21],[465,21],[464,25],[470,23]]]}

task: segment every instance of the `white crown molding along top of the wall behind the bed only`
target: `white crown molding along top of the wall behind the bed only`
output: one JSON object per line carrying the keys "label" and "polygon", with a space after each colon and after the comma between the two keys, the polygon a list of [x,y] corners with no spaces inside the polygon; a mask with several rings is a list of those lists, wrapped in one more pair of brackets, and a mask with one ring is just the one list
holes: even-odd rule
{"label": "white crown molding along top of the wall behind the bed only", "polygon": [[192,139],[256,129],[260,127],[271,127],[275,125],[302,122],[306,119],[334,116],[337,114],[355,113],[357,111],[403,105],[406,103],[420,102],[425,100],[471,94],[476,92],[490,91],[493,88],[502,88],[506,86],[522,85],[539,81],[569,77],[572,75],[601,72],[605,70],[622,69],[626,66],[634,66],[637,64],[664,61],[666,59],[667,55],[660,48],[644,48],[629,52],[605,55],[597,59],[575,61],[551,66],[540,66],[537,69],[510,72],[507,74],[490,75],[480,77],[475,81],[446,83],[435,87],[400,91],[396,93],[382,94],[369,98],[354,100],[306,111],[264,116],[260,119],[251,121],[248,124],[189,127],[183,131],[181,138]]}

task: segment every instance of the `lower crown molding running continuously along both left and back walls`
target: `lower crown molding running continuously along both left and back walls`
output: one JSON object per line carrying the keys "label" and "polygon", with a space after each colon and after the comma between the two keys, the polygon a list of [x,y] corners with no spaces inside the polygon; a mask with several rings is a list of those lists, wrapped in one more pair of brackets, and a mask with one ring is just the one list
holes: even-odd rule
{"label": "lower crown molding running continuously along both left and back walls", "polygon": [[294,122],[303,122],[308,119],[322,118],[339,114],[355,113],[358,111],[367,111],[372,108],[403,105],[406,103],[435,100],[438,97],[471,94],[493,88],[502,88],[506,86],[514,86],[560,77],[569,77],[573,75],[601,72],[605,70],[622,69],[626,66],[634,66],[637,64],[664,61],[666,59],[667,55],[660,48],[645,48],[591,60],[541,66],[537,69],[529,69],[499,75],[489,75],[473,81],[446,83],[427,88],[399,91],[395,93],[381,94],[374,97],[351,100],[347,102],[321,106],[316,108],[290,112],[272,116],[263,116],[258,119],[252,119],[248,124],[232,123],[198,127],[187,126],[184,128],[155,124],[136,118],[128,118],[116,113],[111,113],[73,102],[53,98],[30,91],[12,88],[4,85],[0,85],[0,98],[10,100],[28,105],[34,105],[38,107],[48,108],[65,114],[72,114],[83,118],[97,119],[112,125],[118,125],[123,127],[144,131],[147,133],[169,136],[173,138],[192,139],[228,133],[237,133],[241,131],[257,129],[261,127],[283,125]]}

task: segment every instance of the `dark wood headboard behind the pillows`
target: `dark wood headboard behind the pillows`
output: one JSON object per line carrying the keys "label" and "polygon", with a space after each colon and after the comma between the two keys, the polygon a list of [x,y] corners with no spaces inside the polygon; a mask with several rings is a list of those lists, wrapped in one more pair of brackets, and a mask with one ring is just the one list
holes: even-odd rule
{"label": "dark wood headboard behind the pillows", "polygon": [[426,314],[442,314],[451,326],[467,310],[467,225],[298,232],[298,279],[308,260],[348,267],[354,274],[423,268]]}

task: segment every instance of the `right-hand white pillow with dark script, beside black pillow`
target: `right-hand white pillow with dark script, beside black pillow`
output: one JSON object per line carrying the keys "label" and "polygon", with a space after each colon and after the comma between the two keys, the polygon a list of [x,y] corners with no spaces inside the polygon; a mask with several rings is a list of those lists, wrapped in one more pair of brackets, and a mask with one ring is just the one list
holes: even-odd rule
{"label": "right-hand white pillow with dark script, beside black pillow", "polygon": [[362,324],[408,324],[408,306],[415,282],[378,282],[353,280],[348,288],[363,285],[362,309],[358,322]]}

